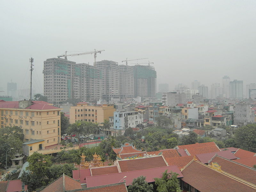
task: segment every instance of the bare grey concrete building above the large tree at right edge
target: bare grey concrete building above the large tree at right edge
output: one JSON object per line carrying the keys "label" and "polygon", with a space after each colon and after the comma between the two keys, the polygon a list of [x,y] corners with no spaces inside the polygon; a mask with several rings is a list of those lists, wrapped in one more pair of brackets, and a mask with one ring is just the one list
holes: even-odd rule
{"label": "bare grey concrete building above the large tree at right edge", "polygon": [[234,106],[234,124],[243,126],[246,124],[255,123],[254,112],[249,104],[238,103]]}

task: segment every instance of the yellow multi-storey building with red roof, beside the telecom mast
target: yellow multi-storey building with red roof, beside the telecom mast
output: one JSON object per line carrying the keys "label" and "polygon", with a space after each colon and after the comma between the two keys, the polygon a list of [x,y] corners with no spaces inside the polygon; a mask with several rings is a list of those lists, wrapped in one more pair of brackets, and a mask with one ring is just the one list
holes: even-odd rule
{"label": "yellow multi-storey building with red roof, beside the telecom mast", "polygon": [[1,128],[19,126],[25,142],[44,140],[44,149],[60,142],[60,110],[45,101],[0,100]]}

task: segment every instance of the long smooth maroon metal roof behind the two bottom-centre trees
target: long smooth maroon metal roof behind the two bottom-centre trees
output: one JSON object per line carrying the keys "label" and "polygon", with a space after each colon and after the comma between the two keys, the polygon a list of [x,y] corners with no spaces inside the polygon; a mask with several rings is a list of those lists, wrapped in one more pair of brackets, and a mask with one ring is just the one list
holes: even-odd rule
{"label": "long smooth maroon metal roof behind the two bottom-centre trees", "polygon": [[[178,178],[183,177],[180,170],[176,165],[173,166],[164,166],[164,167],[156,167],[152,169],[144,169],[137,171],[129,171],[129,172],[120,172],[120,173],[112,173],[108,175],[97,175],[92,177],[86,177],[87,187],[94,187],[100,185],[107,185],[111,183],[117,183],[120,179],[125,178],[126,185],[131,185],[134,178],[137,178],[141,175],[146,177],[147,182],[154,182],[154,178],[161,178],[163,176],[163,172],[167,170],[168,172],[176,172],[178,173]],[[118,192],[118,191],[115,191]]]}

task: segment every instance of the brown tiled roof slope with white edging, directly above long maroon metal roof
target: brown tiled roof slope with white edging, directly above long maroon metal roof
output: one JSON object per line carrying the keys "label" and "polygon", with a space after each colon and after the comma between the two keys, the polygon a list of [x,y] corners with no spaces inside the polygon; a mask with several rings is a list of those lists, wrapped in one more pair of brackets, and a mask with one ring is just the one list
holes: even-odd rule
{"label": "brown tiled roof slope with white edging, directly above long maroon metal roof", "polygon": [[136,170],[142,170],[142,169],[151,169],[156,167],[167,166],[163,156],[119,160],[118,164],[121,169],[121,172],[136,171]]}

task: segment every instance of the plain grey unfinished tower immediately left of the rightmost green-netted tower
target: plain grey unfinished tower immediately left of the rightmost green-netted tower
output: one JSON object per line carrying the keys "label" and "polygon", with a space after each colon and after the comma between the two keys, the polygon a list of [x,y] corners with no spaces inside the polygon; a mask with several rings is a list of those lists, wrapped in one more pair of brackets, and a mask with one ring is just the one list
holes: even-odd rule
{"label": "plain grey unfinished tower immediately left of the rightmost green-netted tower", "polygon": [[134,97],[134,75],[133,68],[129,65],[118,65],[119,71],[119,93],[121,97]]}

